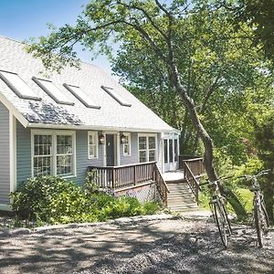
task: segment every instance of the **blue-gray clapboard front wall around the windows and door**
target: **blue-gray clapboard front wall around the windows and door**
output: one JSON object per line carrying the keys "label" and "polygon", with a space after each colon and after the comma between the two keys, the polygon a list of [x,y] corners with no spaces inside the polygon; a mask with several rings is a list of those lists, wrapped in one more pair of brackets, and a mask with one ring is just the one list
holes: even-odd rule
{"label": "blue-gray clapboard front wall around the windows and door", "polygon": [[[99,135],[101,132],[98,132]],[[8,141],[8,138],[7,138]],[[157,162],[162,169],[161,134],[157,134]],[[24,128],[18,121],[16,125],[16,177],[17,184],[26,182],[31,177],[31,130]],[[139,163],[138,132],[131,133],[131,156],[123,156],[120,144],[120,164]],[[88,158],[88,131],[76,131],[76,176],[68,180],[83,184],[87,175],[88,166],[103,166],[103,145],[98,146],[98,158]]]}

